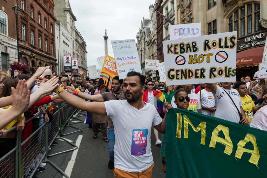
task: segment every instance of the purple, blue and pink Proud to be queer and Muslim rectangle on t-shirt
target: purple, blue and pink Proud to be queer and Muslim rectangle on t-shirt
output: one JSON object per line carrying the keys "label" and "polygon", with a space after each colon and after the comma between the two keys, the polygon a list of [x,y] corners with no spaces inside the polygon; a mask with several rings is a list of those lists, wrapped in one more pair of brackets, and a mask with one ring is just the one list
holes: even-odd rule
{"label": "purple, blue and pink Proud to be queer and Muslim rectangle on t-shirt", "polygon": [[133,129],[131,155],[139,156],[146,154],[147,129]]}

